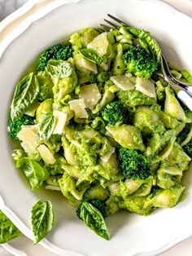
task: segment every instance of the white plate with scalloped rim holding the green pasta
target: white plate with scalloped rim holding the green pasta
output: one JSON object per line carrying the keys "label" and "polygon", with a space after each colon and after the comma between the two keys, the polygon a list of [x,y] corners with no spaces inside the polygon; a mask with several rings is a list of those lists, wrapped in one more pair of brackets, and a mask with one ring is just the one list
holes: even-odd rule
{"label": "white plate with scalloped rim holding the green pasta", "polygon": [[[161,1],[150,0],[82,0],[65,4],[57,0],[25,20],[2,45],[0,60],[0,208],[20,228],[29,232],[30,209],[39,199],[50,199],[55,209],[55,227],[48,241],[41,242],[55,253],[69,256],[157,255],[192,234],[192,175],[185,174],[189,187],[186,200],[168,210],[156,210],[149,217],[120,212],[107,218],[111,241],[104,241],[76,217],[76,210],[59,192],[41,189],[31,192],[24,175],[15,169],[11,159],[11,140],[7,137],[7,118],[16,82],[28,65],[46,47],[78,29],[98,26],[107,13],[116,15],[138,28],[150,30],[160,42],[172,64],[188,68],[192,49],[192,20]],[[13,40],[15,38],[15,40]],[[9,46],[7,46],[9,44]],[[0,49],[0,52],[2,51]],[[177,53],[177,54],[176,54]],[[60,249],[55,248],[54,245]],[[76,253],[72,253],[76,252]]]}

